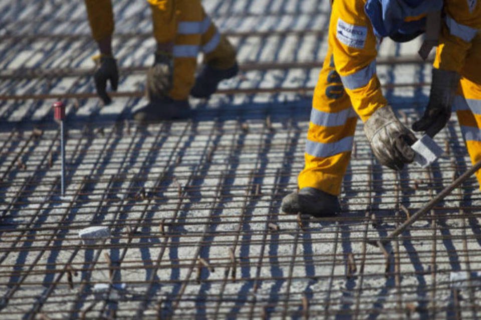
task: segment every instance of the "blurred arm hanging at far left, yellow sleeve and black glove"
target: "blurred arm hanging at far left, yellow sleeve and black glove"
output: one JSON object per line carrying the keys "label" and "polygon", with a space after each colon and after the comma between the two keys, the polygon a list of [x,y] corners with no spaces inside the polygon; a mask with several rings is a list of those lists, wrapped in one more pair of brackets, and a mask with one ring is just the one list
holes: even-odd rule
{"label": "blurred arm hanging at far left, yellow sleeve and black glove", "polygon": [[105,104],[112,100],[107,94],[107,81],[112,90],[117,90],[119,74],[117,62],[112,54],[112,33],[114,32],[114,14],[110,0],[85,0],[92,36],[97,41],[100,55],[95,57],[97,69],[94,73],[95,87]]}

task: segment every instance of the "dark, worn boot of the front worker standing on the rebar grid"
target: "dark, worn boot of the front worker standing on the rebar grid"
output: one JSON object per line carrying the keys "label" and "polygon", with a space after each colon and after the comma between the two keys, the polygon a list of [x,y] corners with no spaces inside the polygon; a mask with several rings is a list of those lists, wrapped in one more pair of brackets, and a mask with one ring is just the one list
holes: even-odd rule
{"label": "dark, worn boot of the front worker standing on the rebar grid", "polygon": [[311,214],[315,217],[334,216],[341,211],[339,200],[332,195],[312,187],[289,193],[282,199],[281,208],[285,213]]}

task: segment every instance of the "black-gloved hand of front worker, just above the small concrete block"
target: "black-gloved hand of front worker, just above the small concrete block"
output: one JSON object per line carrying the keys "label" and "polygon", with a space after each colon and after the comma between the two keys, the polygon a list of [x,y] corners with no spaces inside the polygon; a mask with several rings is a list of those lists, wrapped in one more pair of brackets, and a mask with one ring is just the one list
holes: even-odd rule
{"label": "black-gloved hand of front worker, just above the small concrete block", "polygon": [[414,131],[426,131],[427,135],[433,137],[446,125],[451,116],[451,103],[458,82],[457,72],[432,69],[429,103],[424,115],[412,124]]}

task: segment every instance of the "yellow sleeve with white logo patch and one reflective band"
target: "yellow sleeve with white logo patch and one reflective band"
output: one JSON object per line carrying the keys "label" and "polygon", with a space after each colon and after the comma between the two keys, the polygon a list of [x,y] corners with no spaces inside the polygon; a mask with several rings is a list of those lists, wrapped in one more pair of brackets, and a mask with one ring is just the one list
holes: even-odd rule
{"label": "yellow sleeve with white logo patch and one reflective band", "polygon": [[329,45],[352,107],[366,121],[387,100],[376,75],[377,40],[364,13],[364,1],[334,1]]}

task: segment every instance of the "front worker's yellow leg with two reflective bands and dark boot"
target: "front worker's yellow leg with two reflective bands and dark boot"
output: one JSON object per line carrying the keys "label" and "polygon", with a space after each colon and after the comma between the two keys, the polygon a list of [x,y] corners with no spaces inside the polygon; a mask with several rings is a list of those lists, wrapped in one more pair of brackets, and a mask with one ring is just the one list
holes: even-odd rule
{"label": "front worker's yellow leg with two reflective bands and dark boot", "polygon": [[[300,193],[303,190],[320,190],[327,200],[335,199],[351,157],[357,115],[351,107],[349,96],[344,91],[339,74],[334,67],[331,48],[328,49],[319,80],[314,90],[311,121],[307,133],[305,167],[299,174]],[[295,194],[290,194],[296,200]],[[283,210],[294,212],[296,206],[283,201]],[[312,196],[310,196],[312,198]],[[302,199],[298,199],[302,201]],[[299,205],[303,213],[323,215]],[[319,203],[314,207],[319,207]],[[293,212],[289,212],[293,211]],[[310,212],[311,211],[311,212]],[[329,212],[328,209],[326,211]],[[333,213],[332,211],[329,213]]]}

